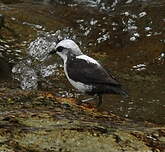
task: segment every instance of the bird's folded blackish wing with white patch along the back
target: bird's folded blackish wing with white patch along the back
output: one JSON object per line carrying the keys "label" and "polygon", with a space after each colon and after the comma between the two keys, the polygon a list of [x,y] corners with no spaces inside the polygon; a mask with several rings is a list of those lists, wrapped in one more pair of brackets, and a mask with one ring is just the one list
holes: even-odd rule
{"label": "bird's folded blackish wing with white patch along the back", "polygon": [[105,69],[94,59],[85,56],[74,57],[67,60],[68,76],[74,81],[85,84],[109,84],[120,86],[120,84],[108,74]]}

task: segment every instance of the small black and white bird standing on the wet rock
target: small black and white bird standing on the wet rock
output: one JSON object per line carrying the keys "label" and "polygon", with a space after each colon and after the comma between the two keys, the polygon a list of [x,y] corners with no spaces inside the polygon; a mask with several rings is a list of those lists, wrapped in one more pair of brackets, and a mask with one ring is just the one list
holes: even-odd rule
{"label": "small black and white bird standing on the wet rock", "polygon": [[65,75],[78,91],[99,97],[97,107],[102,103],[103,94],[127,96],[119,82],[95,59],[84,55],[74,41],[60,41],[49,54],[58,54],[63,59]]}

